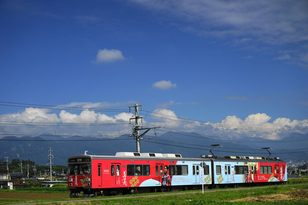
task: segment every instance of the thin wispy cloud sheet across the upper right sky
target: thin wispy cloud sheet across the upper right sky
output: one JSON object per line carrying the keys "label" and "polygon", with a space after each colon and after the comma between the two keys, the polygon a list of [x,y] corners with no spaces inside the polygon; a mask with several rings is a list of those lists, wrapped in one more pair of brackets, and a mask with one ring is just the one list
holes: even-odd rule
{"label": "thin wispy cloud sheet across the upper right sky", "polygon": [[256,37],[274,44],[308,39],[306,1],[132,1],[184,20],[201,35],[231,35],[244,41]]}

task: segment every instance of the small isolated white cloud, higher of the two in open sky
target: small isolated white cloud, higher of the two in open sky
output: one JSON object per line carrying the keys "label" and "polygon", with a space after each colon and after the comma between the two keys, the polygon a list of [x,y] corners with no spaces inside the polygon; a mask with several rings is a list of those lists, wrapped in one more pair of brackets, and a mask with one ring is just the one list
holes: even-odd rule
{"label": "small isolated white cloud, higher of the two in open sky", "polygon": [[98,50],[97,55],[96,55],[96,60],[95,62],[97,63],[103,63],[103,62],[114,62],[117,60],[123,60],[125,59],[122,51],[120,50],[115,50],[115,49],[103,49],[103,50]]}

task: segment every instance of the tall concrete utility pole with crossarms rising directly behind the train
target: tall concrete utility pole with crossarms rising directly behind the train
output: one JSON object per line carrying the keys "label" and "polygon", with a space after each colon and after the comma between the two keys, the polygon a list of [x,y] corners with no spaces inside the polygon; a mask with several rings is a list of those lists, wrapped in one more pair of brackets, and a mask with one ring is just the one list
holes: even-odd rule
{"label": "tall concrete utility pole with crossarms rising directly behind the train", "polygon": [[[137,152],[140,153],[140,139],[144,139],[142,138],[143,135],[145,135],[145,133],[147,133],[149,130],[151,129],[155,129],[155,128],[159,128],[159,127],[152,127],[152,128],[143,128],[143,125],[139,125],[139,119],[141,118],[141,123],[142,123],[142,118],[143,116],[139,116],[139,111],[138,111],[138,107],[141,107],[141,111],[142,111],[142,105],[138,105],[135,104],[134,106],[129,106],[129,112],[131,111],[131,107],[135,107],[135,115],[132,116],[132,118],[129,119],[129,123],[131,123],[132,119],[135,119],[135,125],[133,126],[133,131],[131,136],[129,137],[134,137],[134,139],[136,138],[136,150]],[[139,135],[139,131],[140,130],[146,130],[143,134]],[[156,131],[154,132],[155,136],[156,136]],[[151,138],[157,138],[157,137],[151,137]],[[147,138],[149,139],[149,138]]]}

